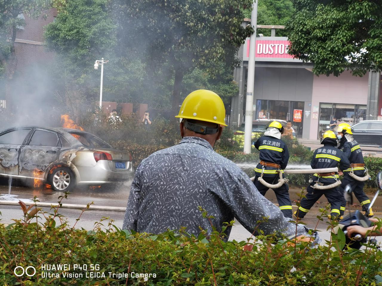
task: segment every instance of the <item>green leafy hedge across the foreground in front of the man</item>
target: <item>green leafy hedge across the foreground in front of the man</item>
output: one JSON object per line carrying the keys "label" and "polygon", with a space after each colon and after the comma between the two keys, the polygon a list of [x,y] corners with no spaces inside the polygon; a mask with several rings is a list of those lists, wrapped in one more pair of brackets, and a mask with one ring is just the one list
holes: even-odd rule
{"label": "green leafy hedge across the foreground in front of the man", "polygon": [[[13,225],[0,224],[1,285],[366,286],[380,285],[382,281],[382,252],[371,245],[365,251],[344,252],[343,233],[332,235],[325,245],[313,249],[307,243],[276,241],[272,235],[259,235],[256,243],[252,240],[246,246],[246,241],[225,243],[217,232],[210,237],[203,232],[198,237],[189,237],[184,230],[178,231],[180,235],[173,231],[160,235],[129,234],[105,218],[94,230],[78,230],[65,223],[56,225],[54,218],[65,221],[59,211],[58,207],[52,208],[50,214],[39,211],[26,214],[25,219],[16,220]],[[46,221],[33,223],[36,215],[45,217]],[[211,218],[203,215],[205,219]],[[244,246],[253,249],[244,251]],[[43,278],[40,265],[46,264],[71,265],[66,273],[83,276],[63,277],[65,271],[57,270],[51,273],[57,273],[59,278]],[[82,269],[73,270],[74,265],[81,265]],[[37,275],[17,277],[16,266],[33,266]],[[95,271],[91,270],[92,266]],[[99,277],[90,278],[90,272],[98,272]],[[124,276],[113,277],[109,272],[127,274],[128,280]],[[131,277],[132,272],[152,275],[143,281]]]}

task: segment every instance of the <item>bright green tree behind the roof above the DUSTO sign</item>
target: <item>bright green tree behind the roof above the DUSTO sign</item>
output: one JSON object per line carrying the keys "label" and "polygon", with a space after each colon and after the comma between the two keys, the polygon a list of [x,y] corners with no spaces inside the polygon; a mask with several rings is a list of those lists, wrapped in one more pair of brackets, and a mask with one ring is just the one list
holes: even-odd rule
{"label": "bright green tree behind the roof above the DUSTO sign", "polygon": [[[295,7],[292,0],[257,0],[257,25],[283,25],[285,26],[290,22]],[[247,8],[244,11],[246,18],[251,18],[252,8]],[[264,34],[270,36],[270,29],[257,29],[257,34]],[[288,31],[286,29],[277,30],[277,36],[286,36]]]}

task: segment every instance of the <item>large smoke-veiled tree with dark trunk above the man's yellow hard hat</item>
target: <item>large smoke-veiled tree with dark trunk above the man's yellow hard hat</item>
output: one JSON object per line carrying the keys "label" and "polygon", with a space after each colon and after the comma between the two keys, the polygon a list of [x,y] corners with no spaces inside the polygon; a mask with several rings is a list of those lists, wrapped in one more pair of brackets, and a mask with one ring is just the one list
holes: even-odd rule
{"label": "large smoke-veiled tree with dark trunk above the man's yellow hard hat", "polygon": [[114,1],[121,55],[133,50],[149,72],[173,76],[172,111],[178,111],[183,77],[196,67],[219,73],[235,63],[250,34],[241,26],[251,0]]}

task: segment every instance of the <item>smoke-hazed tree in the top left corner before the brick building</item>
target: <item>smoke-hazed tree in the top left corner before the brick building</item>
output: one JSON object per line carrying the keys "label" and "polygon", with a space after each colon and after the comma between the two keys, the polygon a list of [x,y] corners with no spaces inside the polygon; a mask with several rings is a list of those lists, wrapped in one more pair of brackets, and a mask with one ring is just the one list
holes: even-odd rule
{"label": "smoke-hazed tree in the top left corner before the brick building", "polygon": [[[5,96],[9,104],[10,80],[15,73],[17,58],[15,40],[19,26],[25,26],[25,19],[20,14],[38,18],[50,7],[61,8],[65,0],[0,0],[0,73],[6,77]],[[44,16],[44,15],[43,15]]]}

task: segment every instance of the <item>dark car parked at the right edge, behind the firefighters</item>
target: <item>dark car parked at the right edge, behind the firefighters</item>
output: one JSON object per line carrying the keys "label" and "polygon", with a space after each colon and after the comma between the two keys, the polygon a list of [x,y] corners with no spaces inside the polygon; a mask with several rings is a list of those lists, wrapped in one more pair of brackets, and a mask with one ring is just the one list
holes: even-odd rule
{"label": "dark car parked at the right edge, behind the firefighters", "polygon": [[351,129],[359,145],[382,147],[382,121],[364,120],[351,126]]}

